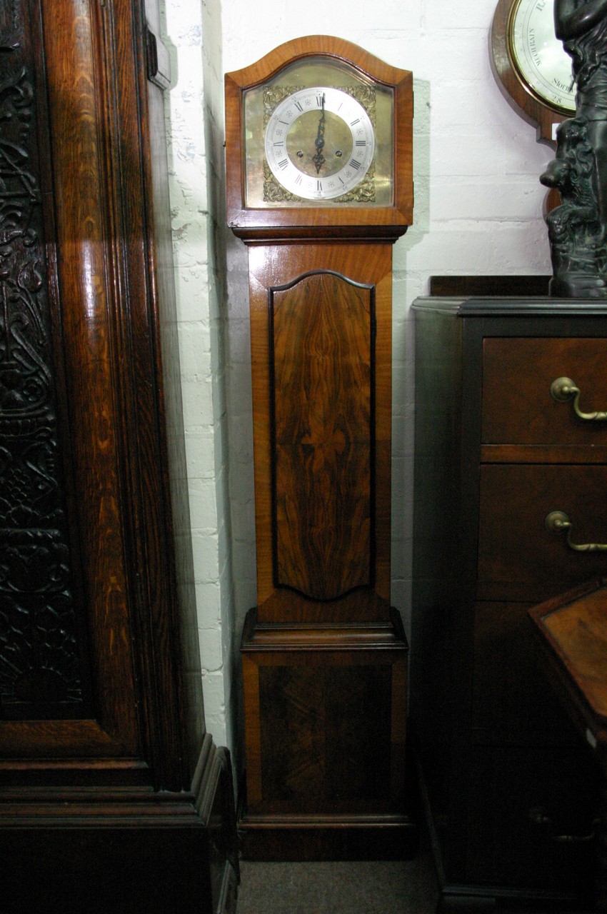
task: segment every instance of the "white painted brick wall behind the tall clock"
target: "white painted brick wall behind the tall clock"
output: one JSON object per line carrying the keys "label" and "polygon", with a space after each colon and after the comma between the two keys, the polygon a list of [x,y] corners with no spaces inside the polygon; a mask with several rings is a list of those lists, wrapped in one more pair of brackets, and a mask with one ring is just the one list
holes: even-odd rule
{"label": "white painted brick wall behind the tall clock", "polygon": [[[165,0],[178,80],[172,165],[187,458],[208,728],[235,749],[238,641],[255,600],[246,250],[225,228],[222,75],[293,37],[345,37],[414,75],[414,225],[394,247],[392,600],[410,617],[410,303],[433,273],[549,273],[552,152],[505,101],[488,34],[496,0]],[[314,26],[311,22],[314,21]],[[207,178],[210,178],[208,186]]]}

